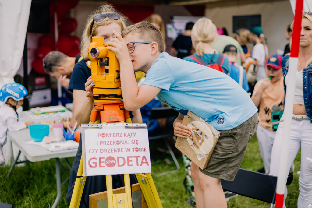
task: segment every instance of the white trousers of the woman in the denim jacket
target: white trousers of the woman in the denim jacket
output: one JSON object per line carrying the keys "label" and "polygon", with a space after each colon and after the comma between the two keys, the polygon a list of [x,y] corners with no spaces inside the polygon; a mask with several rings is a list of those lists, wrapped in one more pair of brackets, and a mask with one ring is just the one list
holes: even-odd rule
{"label": "white trousers of the woman in the denim jacket", "polygon": [[[297,116],[297,115],[293,115]],[[283,119],[284,115],[281,119]],[[298,117],[298,116],[297,116]],[[280,162],[280,147],[282,143],[283,122],[281,122],[276,131],[276,136],[273,143],[271,154],[270,175],[278,176]],[[312,167],[305,160],[306,157],[311,157],[312,154],[312,123],[310,120],[297,121],[291,120],[290,142],[287,161],[287,170],[285,176],[290,170],[291,164],[301,148],[301,164],[299,176],[299,197],[298,207],[306,208],[312,204]],[[286,181],[285,181],[286,184]],[[287,188],[285,186],[284,204],[287,196]]]}

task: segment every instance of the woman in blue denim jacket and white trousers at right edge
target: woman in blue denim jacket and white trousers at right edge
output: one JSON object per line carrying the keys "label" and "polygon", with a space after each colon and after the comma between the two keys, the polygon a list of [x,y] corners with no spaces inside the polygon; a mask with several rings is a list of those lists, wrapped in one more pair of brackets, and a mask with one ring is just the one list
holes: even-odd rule
{"label": "woman in blue denim jacket and white trousers at right edge", "polygon": [[[298,207],[309,207],[309,204],[312,204],[312,167],[305,158],[312,155],[312,12],[302,16],[298,59],[296,77],[293,78],[296,79],[296,85],[285,176],[288,175],[290,166],[301,148]],[[288,65],[289,56],[285,56],[282,62],[285,90],[288,80],[291,79],[287,75]],[[283,117],[284,115],[281,120]],[[274,176],[278,175],[282,131],[283,122],[278,126],[272,148],[270,174]],[[285,186],[284,207],[286,196]]]}

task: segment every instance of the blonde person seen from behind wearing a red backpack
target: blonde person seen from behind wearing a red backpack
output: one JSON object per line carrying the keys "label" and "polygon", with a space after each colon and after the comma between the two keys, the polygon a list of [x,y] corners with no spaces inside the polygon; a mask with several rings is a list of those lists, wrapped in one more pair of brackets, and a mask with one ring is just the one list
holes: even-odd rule
{"label": "blonde person seen from behind wearing a red backpack", "polygon": [[[199,56],[207,64],[209,62],[217,63],[219,56],[223,56],[223,54],[219,54],[211,46],[216,36],[217,27],[210,19],[203,17],[197,20],[191,31],[192,43],[195,48],[193,55]],[[183,60],[198,63],[198,58],[195,57],[196,60],[194,60],[193,55],[184,57]],[[227,56],[224,56],[223,63],[220,66],[225,74],[230,72],[231,68]]]}

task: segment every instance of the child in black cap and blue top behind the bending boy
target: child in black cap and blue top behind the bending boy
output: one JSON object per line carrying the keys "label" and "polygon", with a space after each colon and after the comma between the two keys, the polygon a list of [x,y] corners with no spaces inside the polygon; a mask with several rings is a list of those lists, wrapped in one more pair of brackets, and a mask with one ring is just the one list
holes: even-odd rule
{"label": "child in black cap and blue top behind the bending boy", "polygon": [[234,45],[225,46],[223,53],[227,55],[230,62],[231,71],[229,76],[233,80],[235,80],[239,85],[241,85],[241,87],[244,88],[245,91],[247,92],[249,90],[249,86],[246,71],[242,66],[239,66],[235,62],[236,59],[238,58],[236,46]]}

